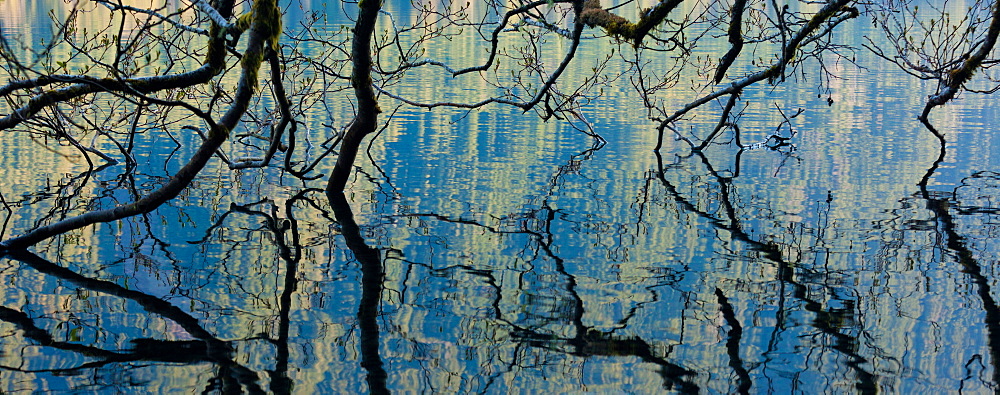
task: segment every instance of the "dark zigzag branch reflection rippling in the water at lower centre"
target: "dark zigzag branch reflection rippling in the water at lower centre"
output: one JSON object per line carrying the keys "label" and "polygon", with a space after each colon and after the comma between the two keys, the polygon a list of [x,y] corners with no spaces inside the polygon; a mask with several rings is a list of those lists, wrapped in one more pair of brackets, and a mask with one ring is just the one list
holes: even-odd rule
{"label": "dark zigzag branch reflection rippling in the water at lower centre", "polygon": [[[492,318],[505,327],[511,341],[526,344],[547,352],[583,359],[592,357],[636,358],[644,363],[656,366],[657,374],[662,379],[664,389],[682,393],[698,393],[700,388],[692,380],[698,375],[698,372],[672,361],[670,357],[671,346],[667,346],[666,352],[663,352],[660,349],[661,347],[654,345],[653,341],[643,339],[640,336],[622,336],[615,333],[617,330],[628,327],[629,320],[632,319],[637,308],[633,308],[632,312],[626,318],[619,321],[616,329],[604,330],[587,325],[585,317],[588,309],[585,307],[584,299],[578,292],[579,284],[577,276],[571,272],[571,269],[567,267],[566,260],[557,252],[559,246],[555,241],[556,236],[553,226],[562,220],[561,216],[565,213],[554,209],[550,203],[550,199],[557,195],[556,191],[559,187],[565,185],[567,177],[571,175],[579,176],[583,163],[592,159],[594,154],[603,148],[603,146],[603,141],[595,140],[593,146],[589,149],[573,155],[549,177],[547,192],[541,194],[541,197],[538,198],[540,201],[526,208],[524,212],[509,214],[500,218],[500,226],[493,226],[468,218],[450,218],[438,213],[407,213],[401,214],[399,217],[431,219],[443,223],[475,227],[488,234],[524,237],[526,241],[523,245],[519,245],[518,249],[523,254],[522,259],[531,267],[529,271],[548,269],[559,277],[558,281],[555,278],[551,280],[556,282],[555,284],[539,284],[543,287],[553,287],[551,291],[556,292],[558,296],[539,296],[537,300],[533,301],[532,306],[529,307],[532,310],[542,309],[542,306],[547,303],[554,304],[555,307],[551,311],[545,312],[547,314],[531,313],[526,314],[526,317],[508,317],[509,313],[505,313],[500,307],[504,292],[501,286],[498,285],[499,282],[492,270],[478,269],[471,265],[432,269],[442,272],[441,275],[446,275],[445,272],[449,272],[452,269],[465,270],[484,278],[485,282],[495,289],[492,293],[495,295],[491,303]],[[346,234],[345,229],[345,236]],[[521,276],[527,274],[529,273],[521,273]],[[519,288],[519,290],[528,294],[533,291],[524,288]],[[556,300],[546,301],[547,298],[554,298]],[[597,310],[599,310],[599,306]],[[569,327],[569,335],[558,334],[559,331],[548,329],[549,326],[563,324]],[[516,360],[509,362],[507,369],[512,369],[516,363]],[[496,375],[491,376],[479,392],[489,392],[496,377]]]}

